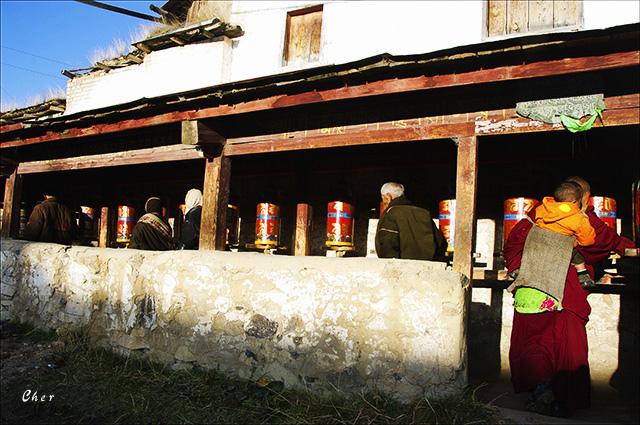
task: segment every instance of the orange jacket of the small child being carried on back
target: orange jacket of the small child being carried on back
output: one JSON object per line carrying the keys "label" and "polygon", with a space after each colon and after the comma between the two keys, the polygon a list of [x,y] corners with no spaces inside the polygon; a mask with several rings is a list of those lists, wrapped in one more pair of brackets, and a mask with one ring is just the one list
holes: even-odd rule
{"label": "orange jacket of the small child being carried on back", "polygon": [[596,240],[595,230],[576,202],[556,202],[545,197],[536,207],[536,224],[561,235],[575,236],[575,245],[589,246]]}

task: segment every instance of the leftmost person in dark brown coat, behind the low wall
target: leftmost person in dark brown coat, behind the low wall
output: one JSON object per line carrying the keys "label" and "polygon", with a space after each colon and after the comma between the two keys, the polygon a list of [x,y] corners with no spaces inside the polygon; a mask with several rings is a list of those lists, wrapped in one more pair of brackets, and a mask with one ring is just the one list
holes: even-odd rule
{"label": "leftmost person in dark brown coat, behind the low wall", "polygon": [[55,196],[44,195],[44,201],[36,205],[29,216],[24,238],[71,245],[76,233],[76,221],[71,210],[58,202]]}

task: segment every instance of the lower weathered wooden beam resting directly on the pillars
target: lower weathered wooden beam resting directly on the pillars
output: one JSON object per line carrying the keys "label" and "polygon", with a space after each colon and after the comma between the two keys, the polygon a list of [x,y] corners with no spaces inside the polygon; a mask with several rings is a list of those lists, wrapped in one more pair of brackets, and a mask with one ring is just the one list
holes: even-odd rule
{"label": "lower weathered wooden beam resting directly on the pillars", "polygon": [[[605,103],[608,108],[603,113],[605,127],[640,124],[639,94],[609,97],[605,99]],[[603,124],[598,119],[594,127],[603,127]],[[515,109],[501,109],[231,138],[226,140],[225,155],[541,131],[564,131],[564,128],[559,124],[551,125],[522,118]],[[225,142],[219,134],[201,122],[183,121],[181,145],[26,162],[20,164],[18,172],[29,174],[199,159],[202,155],[193,146],[202,147],[207,141],[213,145]]]}

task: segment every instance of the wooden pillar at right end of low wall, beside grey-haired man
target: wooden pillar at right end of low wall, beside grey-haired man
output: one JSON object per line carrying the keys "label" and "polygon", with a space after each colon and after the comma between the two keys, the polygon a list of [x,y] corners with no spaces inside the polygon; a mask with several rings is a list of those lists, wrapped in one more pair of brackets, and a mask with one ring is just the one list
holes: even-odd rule
{"label": "wooden pillar at right end of low wall, beside grey-haired man", "polygon": [[478,140],[460,137],[456,171],[456,223],[453,270],[473,279],[475,246],[476,188],[478,180]]}

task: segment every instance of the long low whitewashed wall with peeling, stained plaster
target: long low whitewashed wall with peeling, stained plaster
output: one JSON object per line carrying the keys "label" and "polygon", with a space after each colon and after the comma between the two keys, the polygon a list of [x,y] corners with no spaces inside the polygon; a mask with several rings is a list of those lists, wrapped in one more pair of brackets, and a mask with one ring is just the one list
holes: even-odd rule
{"label": "long low whitewashed wall with peeling, stained plaster", "polygon": [[467,382],[468,290],[441,263],[2,240],[2,315],[87,326],[175,368],[402,400]]}

